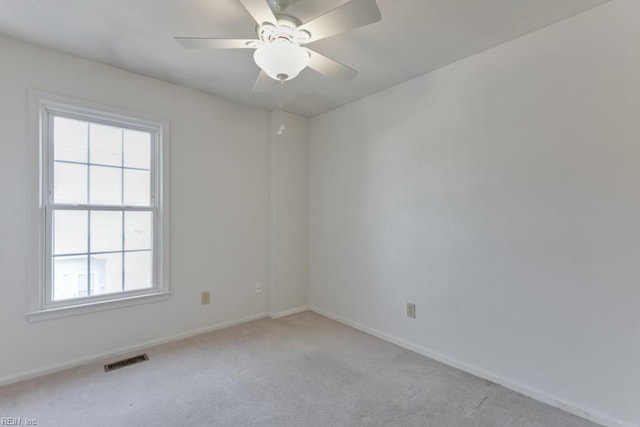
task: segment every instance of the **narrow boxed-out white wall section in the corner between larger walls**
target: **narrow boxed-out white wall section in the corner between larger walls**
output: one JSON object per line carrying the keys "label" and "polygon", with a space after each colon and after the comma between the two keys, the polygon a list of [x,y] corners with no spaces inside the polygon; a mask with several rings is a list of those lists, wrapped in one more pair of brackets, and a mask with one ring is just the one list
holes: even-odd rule
{"label": "narrow boxed-out white wall section in the corner between larger walls", "polygon": [[[281,125],[284,132],[278,135]],[[271,113],[271,313],[307,306],[309,121]]]}

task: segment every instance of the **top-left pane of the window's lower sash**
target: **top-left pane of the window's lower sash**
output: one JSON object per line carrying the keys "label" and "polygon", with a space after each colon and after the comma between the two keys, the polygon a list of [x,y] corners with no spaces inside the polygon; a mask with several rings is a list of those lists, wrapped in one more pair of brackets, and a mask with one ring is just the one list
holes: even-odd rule
{"label": "top-left pane of the window's lower sash", "polygon": [[87,212],[53,212],[53,253],[55,255],[87,252]]}

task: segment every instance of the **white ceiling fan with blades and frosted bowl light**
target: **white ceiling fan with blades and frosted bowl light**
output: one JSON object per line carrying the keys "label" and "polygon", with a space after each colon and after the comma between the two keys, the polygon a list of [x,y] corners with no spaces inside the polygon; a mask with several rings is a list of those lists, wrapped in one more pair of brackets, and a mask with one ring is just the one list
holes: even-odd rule
{"label": "white ceiling fan with blades and frosted bowl light", "polygon": [[[337,8],[302,23],[284,12],[297,0],[239,0],[258,23],[257,39],[221,39],[176,37],[186,49],[255,49],[253,58],[262,69],[253,89],[268,90],[270,82],[285,82],[309,67],[320,74],[349,81],[358,72],[327,58],[304,45],[381,19],[375,0],[351,0]],[[274,14],[271,4],[275,10]]]}

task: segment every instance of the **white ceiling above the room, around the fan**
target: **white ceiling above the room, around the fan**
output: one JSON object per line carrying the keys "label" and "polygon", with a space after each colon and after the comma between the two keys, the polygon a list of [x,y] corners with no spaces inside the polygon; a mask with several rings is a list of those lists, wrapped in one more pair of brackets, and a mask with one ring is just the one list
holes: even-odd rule
{"label": "white ceiling above the room, around the fan", "polygon": [[[382,20],[309,47],[360,74],[349,83],[304,70],[287,82],[285,109],[312,117],[609,0],[377,0]],[[346,0],[298,0],[308,21]],[[256,107],[251,50],[187,51],[174,36],[255,38],[237,0],[0,0],[0,34]],[[5,64],[6,65],[6,64]]]}

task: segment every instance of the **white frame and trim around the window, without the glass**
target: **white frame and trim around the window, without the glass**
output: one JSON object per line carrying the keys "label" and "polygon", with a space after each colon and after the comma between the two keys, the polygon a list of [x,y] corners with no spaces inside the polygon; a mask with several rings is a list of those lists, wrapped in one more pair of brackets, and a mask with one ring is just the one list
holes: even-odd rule
{"label": "white frame and trim around the window, without the glass", "polygon": [[[51,300],[51,211],[53,173],[52,115],[143,130],[152,140],[153,286],[77,299]],[[169,122],[146,114],[80,101],[47,92],[29,91],[29,133],[34,170],[34,215],[27,318],[40,321],[142,303],[166,301],[169,287]],[[73,209],[73,206],[65,206]],[[82,208],[85,208],[84,205]]]}

